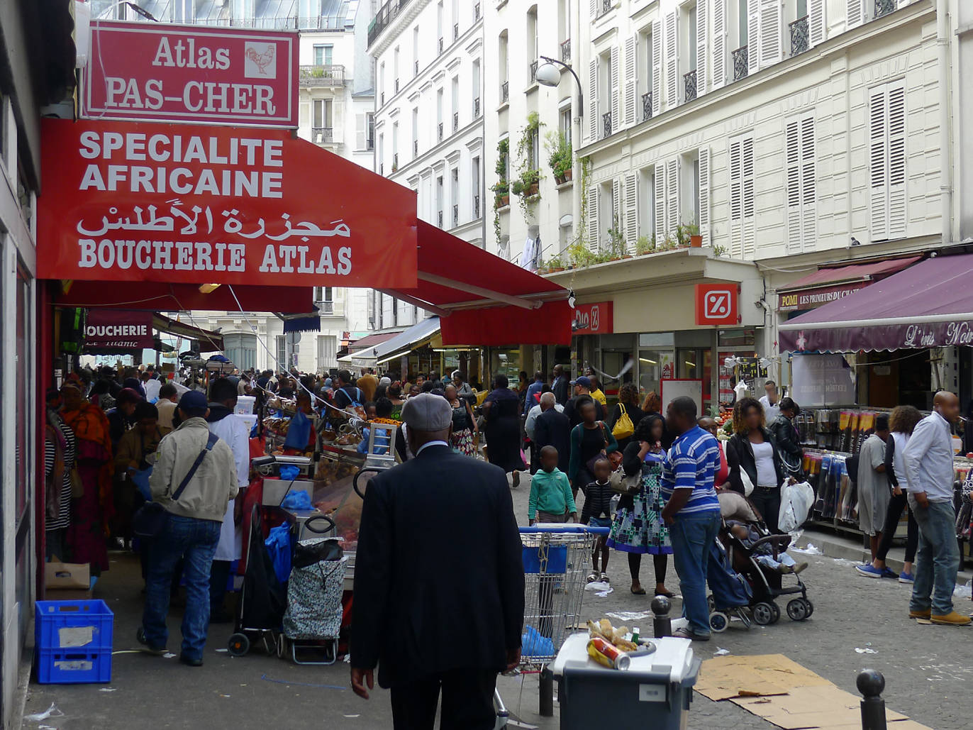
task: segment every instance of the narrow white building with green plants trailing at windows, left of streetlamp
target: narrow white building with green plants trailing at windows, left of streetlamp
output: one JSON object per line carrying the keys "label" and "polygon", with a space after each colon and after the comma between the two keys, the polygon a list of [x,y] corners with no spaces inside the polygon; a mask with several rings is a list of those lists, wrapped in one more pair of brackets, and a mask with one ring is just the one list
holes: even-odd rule
{"label": "narrow white building with green plants trailing at windows, left of streetlamp", "polygon": [[[554,88],[538,84],[536,74],[538,65],[545,63],[541,56],[572,64],[578,2],[487,2],[485,6],[484,60],[490,72],[484,89],[484,130],[489,140],[486,180],[487,188],[497,183],[507,188],[506,195],[492,191],[486,195],[486,249],[519,263],[528,238],[540,237],[539,248],[532,250],[540,259],[551,259],[574,236],[580,196],[576,178],[572,179],[576,170],[571,146],[581,141],[580,90],[569,70],[562,71]],[[566,155],[569,168],[567,179],[560,182],[550,162],[558,153],[560,159]],[[539,177],[536,196],[510,190],[535,173]],[[536,261],[529,254],[528,258]]]}

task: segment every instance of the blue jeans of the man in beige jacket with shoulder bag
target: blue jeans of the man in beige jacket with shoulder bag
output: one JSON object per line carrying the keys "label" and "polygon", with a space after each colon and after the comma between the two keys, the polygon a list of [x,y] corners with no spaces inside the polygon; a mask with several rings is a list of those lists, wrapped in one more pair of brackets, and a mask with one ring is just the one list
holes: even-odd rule
{"label": "blue jeans of the man in beige jacket with shoulder bag", "polygon": [[202,658],[209,629],[209,568],[219,540],[218,522],[168,516],[165,528],[153,539],[149,553],[145,610],[142,613],[142,629],[149,646],[165,646],[168,639],[165,617],[169,612],[172,573],[180,559],[185,559],[186,610],[182,622],[182,653],[190,659]]}

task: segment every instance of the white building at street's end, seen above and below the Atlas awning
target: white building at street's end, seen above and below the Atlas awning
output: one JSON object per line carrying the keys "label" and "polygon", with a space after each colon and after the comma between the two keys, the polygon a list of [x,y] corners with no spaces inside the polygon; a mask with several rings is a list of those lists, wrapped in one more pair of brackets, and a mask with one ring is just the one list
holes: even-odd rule
{"label": "white building at street's end, seen above and below the Atlas awning", "polygon": [[[139,0],[137,5],[161,22],[298,30],[299,136],[372,168],[375,91],[367,53],[370,16],[366,3]],[[112,0],[94,0],[92,17],[99,16],[148,21]],[[313,303],[320,314],[320,330],[289,336],[284,334],[283,320],[272,311],[193,311],[189,318],[202,329],[218,328],[226,355],[241,370],[296,365],[303,372],[323,372],[337,368],[339,350],[366,334],[369,293],[319,286],[314,287]],[[269,307],[272,309],[272,303]]]}

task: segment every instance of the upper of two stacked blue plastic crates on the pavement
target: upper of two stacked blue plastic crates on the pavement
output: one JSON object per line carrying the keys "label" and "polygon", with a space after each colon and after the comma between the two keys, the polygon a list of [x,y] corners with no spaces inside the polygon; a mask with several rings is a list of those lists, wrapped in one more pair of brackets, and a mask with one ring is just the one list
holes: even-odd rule
{"label": "upper of two stacked blue plastic crates on the pavement", "polygon": [[38,601],[34,642],[38,649],[94,653],[112,651],[115,616],[104,601]]}

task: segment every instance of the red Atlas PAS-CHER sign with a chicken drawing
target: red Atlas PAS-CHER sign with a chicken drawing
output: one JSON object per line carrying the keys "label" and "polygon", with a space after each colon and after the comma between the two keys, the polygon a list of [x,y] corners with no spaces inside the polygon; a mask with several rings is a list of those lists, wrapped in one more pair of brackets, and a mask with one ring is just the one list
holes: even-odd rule
{"label": "red Atlas PAS-CHER sign with a chicken drawing", "polygon": [[91,22],[81,116],[297,128],[298,34]]}

